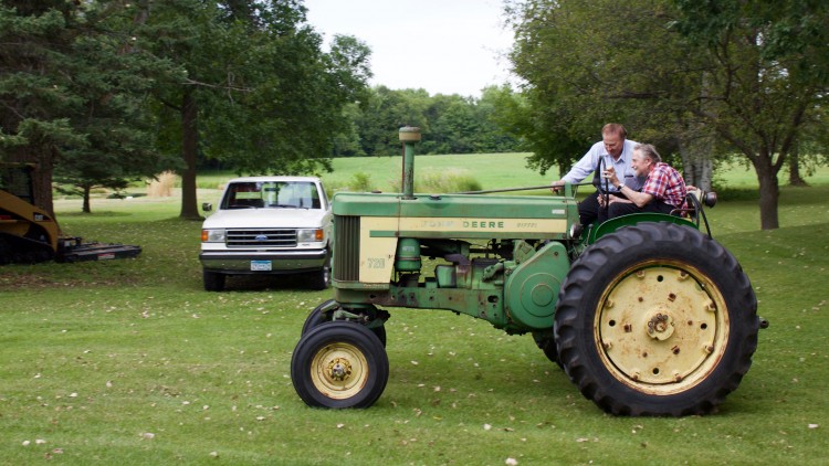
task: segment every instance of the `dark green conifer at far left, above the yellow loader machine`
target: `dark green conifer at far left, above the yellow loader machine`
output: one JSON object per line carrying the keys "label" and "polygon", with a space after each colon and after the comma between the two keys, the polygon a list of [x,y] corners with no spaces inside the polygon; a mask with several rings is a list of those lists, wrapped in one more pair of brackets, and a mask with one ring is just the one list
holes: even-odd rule
{"label": "dark green conifer at far left, above the yellow loader machine", "polygon": [[108,183],[105,171],[116,182],[160,162],[141,109],[158,63],[129,53],[129,22],[120,2],[0,6],[0,151],[36,165],[35,203],[48,211],[54,172]]}

